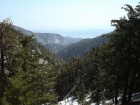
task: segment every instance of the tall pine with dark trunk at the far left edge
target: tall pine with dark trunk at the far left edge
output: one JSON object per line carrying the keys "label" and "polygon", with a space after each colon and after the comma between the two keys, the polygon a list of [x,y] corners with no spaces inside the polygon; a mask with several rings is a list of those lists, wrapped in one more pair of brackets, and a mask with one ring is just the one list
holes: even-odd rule
{"label": "tall pine with dark trunk at the far left edge", "polygon": [[10,77],[18,71],[18,67],[13,63],[17,62],[15,56],[20,49],[17,36],[18,33],[13,29],[10,19],[0,23],[0,105],[2,105]]}

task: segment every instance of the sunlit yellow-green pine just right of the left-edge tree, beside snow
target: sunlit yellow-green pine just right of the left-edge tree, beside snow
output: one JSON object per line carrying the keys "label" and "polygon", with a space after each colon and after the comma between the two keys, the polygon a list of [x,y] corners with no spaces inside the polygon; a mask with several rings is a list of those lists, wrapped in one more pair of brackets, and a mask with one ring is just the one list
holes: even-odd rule
{"label": "sunlit yellow-green pine just right of the left-edge tree, beside snow", "polygon": [[22,68],[26,73],[25,78],[29,79],[28,84],[31,84],[34,102],[37,105],[45,102],[56,103],[57,96],[54,93],[55,71],[51,65],[39,62],[43,56],[39,53],[39,49],[33,48],[32,41],[32,36],[25,36],[21,43],[25,51]]}

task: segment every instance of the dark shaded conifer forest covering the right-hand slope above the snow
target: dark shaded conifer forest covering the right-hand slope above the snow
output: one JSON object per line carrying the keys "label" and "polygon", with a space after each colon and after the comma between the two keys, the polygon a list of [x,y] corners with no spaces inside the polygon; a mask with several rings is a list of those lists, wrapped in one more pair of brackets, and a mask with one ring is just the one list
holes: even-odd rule
{"label": "dark shaded conifer forest covering the right-hand slope above the snow", "polygon": [[[106,35],[108,43],[93,47],[83,59],[74,56],[60,66],[56,87],[60,100],[72,95],[82,105],[92,101],[100,105],[106,99],[115,105],[139,105],[140,5],[122,9],[127,17],[111,21],[115,30]],[[86,93],[91,94],[89,103],[85,102]]]}

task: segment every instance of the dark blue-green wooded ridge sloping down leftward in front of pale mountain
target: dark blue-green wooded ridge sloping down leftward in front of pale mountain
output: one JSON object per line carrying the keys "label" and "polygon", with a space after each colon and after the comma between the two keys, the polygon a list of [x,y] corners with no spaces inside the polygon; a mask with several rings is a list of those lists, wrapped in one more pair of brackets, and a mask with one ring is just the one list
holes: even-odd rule
{"label": "dark blue-green wooded ridge sloping down leftward in front of pale mountain", "polygon": [[69,47],[62,49],[58,55],[65,61],[69,61],[72,56],[84,57],[84,54],[95,46],[100,46],[108,42],[108,38],[103,34],[92,39],[83,39],[82,41],[72,44]]}

